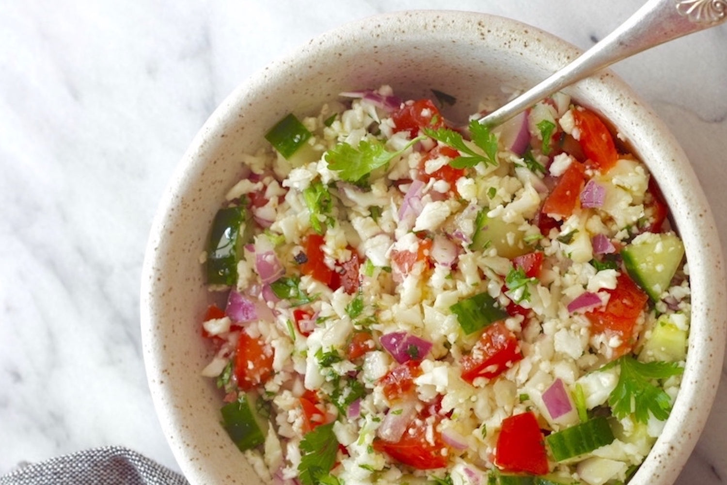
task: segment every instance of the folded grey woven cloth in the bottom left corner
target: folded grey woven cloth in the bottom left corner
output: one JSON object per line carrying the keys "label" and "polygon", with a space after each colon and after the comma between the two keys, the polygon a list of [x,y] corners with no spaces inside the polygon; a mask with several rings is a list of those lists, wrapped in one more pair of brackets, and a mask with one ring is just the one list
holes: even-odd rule
{"label": "folded grey woven cloth in the bottom left corner", "polygon": [[122,446],[103,446],[23,465],[0,485],[189,485],[179,473]]}

